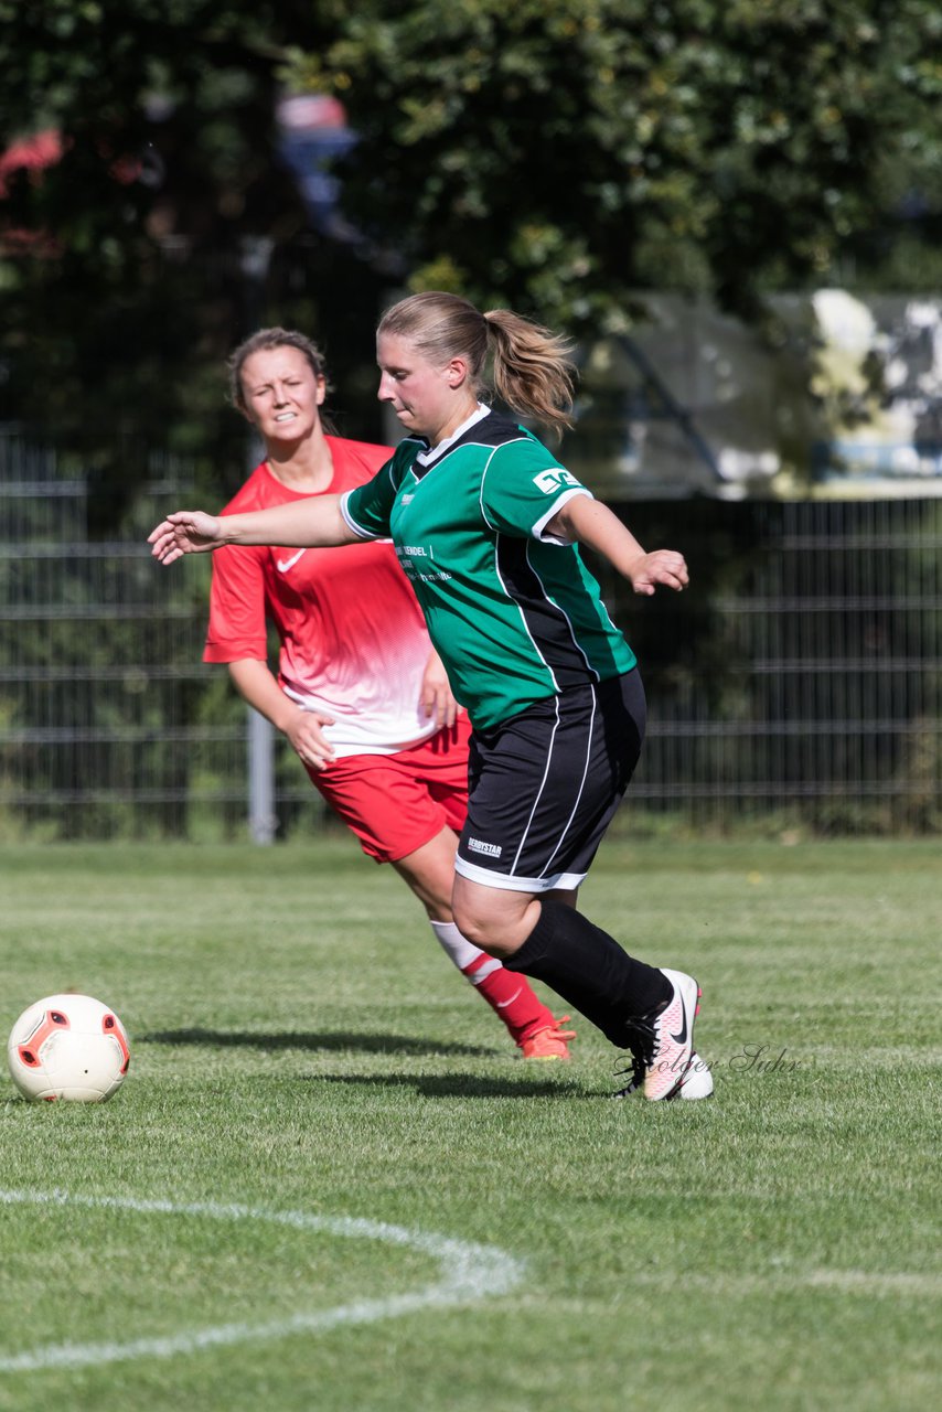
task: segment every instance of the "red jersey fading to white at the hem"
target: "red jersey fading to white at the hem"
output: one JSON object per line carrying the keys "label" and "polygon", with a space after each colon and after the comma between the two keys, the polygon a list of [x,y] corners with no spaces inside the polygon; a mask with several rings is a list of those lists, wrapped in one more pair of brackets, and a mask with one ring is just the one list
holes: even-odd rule
{"label": "red jersey fading to white at the hem", "polygon": [[[391,452],[328,436],[333,480],[323,494],[370,480]],[[266,462],[223,514],[264,510],[304,494]],[[338,757],[393,754],[438,729],[419,705],[432,651],[422,613],[388,541],[332,549],[226,545],[213,555],[205,662],[268,659],[267,623],[281,640],[278,681],[325,729]]]}

